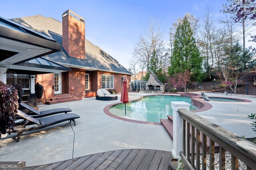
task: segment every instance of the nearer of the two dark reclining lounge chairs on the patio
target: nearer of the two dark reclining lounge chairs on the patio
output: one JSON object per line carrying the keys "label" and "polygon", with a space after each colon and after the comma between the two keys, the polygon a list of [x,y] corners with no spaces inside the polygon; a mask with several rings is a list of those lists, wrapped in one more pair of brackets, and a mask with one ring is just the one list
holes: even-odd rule
{"label": "nearer of the two dark reclining lounge chairs on the patio", "polygon": [[[64,121],[73,121],[74,125],[76,125],[75,119],[78,119],[80,116],[74,113],[69,113],[69,114],[61,114],[61,115],[53,115],[53,116],[48,116],[41,118],[40,120],[35,119],[31,117],[30,115],[27,115],[26,113],[23,113],[22,111],[18,110],[18,113],[16,115],[19,115],[22,117],[22,119],[26,119],[26,123],[24,123],[21,126],[16,126],[13,130],[8,129],[9,133],[18,133],[16,137],[13,137],[12,139],[15,141],[19,141],[20,137],[23,132],[26,131],[34,131],[37,129],[43,129],[45,127],[55,125]],[[31,125],[29,127],[26,127],[26,125]],[[34,125],[34,126],[32,126]]]}

